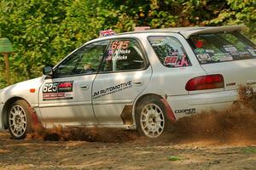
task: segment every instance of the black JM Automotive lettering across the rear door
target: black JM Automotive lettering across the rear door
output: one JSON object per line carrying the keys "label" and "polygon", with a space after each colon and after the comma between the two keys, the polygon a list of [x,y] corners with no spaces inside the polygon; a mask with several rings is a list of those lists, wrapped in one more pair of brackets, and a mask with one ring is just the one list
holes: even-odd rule
{"label": "black JM Automotive lettering across the rear door", "polygon": [[114,94],[121,90],[125,90],[126,88],[131,88],[131,87],[132,87],[131,81],[123,82],[118,85],[111,86],[109,88],[101,89],[101,90],[94,92],[92,95],[92,99],[97,99],[97,98],[100,98],[100,97],[108,95],[108,94]]}

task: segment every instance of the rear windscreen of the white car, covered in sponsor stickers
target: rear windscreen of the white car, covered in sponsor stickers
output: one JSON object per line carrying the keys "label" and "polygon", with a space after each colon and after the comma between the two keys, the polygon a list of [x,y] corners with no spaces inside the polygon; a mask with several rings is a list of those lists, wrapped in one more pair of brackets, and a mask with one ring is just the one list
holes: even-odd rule
{"label": "rear windscreen of the white car, covered in sponsor stickers", "polygon": [[256,46],[239,32],[191,36],[191,48],[201,64],[256,59]]}

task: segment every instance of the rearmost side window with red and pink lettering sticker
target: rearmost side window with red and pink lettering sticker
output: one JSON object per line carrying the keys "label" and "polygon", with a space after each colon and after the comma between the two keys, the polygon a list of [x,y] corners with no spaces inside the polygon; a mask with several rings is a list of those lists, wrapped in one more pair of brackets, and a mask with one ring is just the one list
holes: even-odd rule
{"label": "rearmost side window with red and pink lettering sticker", "polygon": [[182,44],[175,37],[148,37],[151,47],[166,67],[176,68],[190,66],[191,62]]}

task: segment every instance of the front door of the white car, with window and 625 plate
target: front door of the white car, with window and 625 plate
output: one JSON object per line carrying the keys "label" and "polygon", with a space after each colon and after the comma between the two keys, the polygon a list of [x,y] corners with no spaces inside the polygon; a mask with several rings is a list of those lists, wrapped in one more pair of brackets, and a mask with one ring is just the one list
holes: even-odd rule
{"label": "front door of the white car, with window and 625 plate", "polygon": [[108,41],[85,45],[67,56],[39,92],[42,122],[61,125],[97,124],[91,105],[92,82]]}

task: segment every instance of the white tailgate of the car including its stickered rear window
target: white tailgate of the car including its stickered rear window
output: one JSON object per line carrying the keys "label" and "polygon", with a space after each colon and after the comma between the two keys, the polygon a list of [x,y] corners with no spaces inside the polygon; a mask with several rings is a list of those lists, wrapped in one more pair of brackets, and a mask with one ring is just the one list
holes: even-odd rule
{"label": "white tailgate of the car including its stickered rear window", "polygon": [[207,74],[224,77],[224,90],[249,85],[256,91],[256,46],[238,31],[193,35],[189,42]]}

